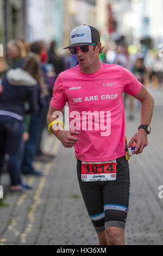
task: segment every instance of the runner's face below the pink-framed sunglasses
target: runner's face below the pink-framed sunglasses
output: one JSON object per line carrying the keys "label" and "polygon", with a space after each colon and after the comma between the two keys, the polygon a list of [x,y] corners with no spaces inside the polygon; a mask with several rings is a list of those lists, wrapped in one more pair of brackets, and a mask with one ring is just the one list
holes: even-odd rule
{"label": "runner's face below the pink-framed sunglasses", "polygon": [[77,60],[80,64],[80,69],[90,69],[92,66],[96,66],[99,59],[99,48],[101,47],[101,44],[97,44],[95,46],[95,50],[93,49],[93,46],[90,46],[89,52],[82,52],[80,49],[78,49],[78,52],[76,54]]}

